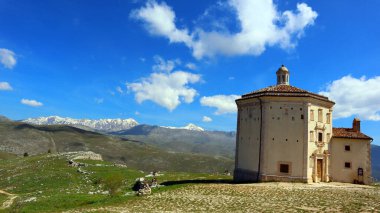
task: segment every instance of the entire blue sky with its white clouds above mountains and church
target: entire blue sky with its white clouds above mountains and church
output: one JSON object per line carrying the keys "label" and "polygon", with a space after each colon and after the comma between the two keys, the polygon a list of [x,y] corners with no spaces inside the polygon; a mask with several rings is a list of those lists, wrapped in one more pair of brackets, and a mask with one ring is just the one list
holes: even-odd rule
{"label": "entire blue sky with its white clouds above mountains and church", "polygon": [[[380,2],[0,1],[0,114],[235,130],[233,99],[275,84],[329,96],[380,144]],[[232,101],[231,101],[232,100]]]}

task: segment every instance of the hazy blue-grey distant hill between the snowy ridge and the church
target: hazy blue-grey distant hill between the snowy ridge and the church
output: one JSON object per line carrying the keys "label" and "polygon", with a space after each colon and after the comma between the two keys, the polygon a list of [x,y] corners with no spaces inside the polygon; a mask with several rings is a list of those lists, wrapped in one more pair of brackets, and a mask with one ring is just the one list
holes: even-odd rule
{"label": "hazy blue-grey distant hill between the snowy ridge and the church", "polygon": [[218,155],[228,158],[233,158],[235,154],[235,132],[191,131],[138,125],[131,129],[111,134],[122,136],[129,140],[142,141],[173,152]]}

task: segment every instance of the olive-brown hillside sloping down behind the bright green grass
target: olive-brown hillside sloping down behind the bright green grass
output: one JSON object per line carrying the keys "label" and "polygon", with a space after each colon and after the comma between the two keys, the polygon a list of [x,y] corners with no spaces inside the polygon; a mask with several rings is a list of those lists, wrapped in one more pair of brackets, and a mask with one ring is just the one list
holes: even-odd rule
{"label": "olive-brown hillside sloping down behind the bright green grass", "polygon": [[124,163],[144,171],[223,172],[233,170],[226,157],[176,153],[138,141],[120,139],[69,126],[33,126],[0,122],[0,151],[23,155],[93,151],[105,160]]}

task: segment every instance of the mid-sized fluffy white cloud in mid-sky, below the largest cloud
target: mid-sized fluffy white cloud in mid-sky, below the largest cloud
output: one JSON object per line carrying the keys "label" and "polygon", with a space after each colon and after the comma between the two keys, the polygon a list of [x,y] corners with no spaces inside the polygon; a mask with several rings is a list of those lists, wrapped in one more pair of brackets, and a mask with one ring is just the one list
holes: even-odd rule
{"label": "mid-sized fluffy white cloud in mid-sky, below the largest cloud", "polygon": [[182,102],[193,102],[197,91],[188,85],[200,80],[200,75],[183,71],[152,73],[137,83],[127,83],[127,88],[135,92],[138,103],[150,100],[172,111]]}

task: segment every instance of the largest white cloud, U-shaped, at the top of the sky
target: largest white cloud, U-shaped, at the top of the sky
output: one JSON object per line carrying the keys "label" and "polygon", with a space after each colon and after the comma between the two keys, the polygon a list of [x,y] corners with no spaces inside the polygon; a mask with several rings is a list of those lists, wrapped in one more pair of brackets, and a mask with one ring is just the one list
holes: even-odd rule
{"label": "largest white cloud, U-shaped, at the top of the sky", "polygon": [[260,55],[267,46],[294,48],[304,29],[314,24],[318,14],[305,3],[297,4],[297,12],[278,11],[272,0],[229,0],[227,6],[236,11],[240,32],[205,31],[200,27],[189,33],[178,29],[175,13],[166,3],[148,1],[134,10],[131,17],[143,21],[147,30],[170,42],[184,43],[197,59],[215,55]]}

